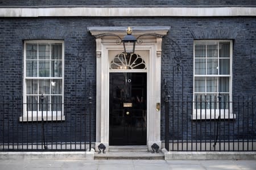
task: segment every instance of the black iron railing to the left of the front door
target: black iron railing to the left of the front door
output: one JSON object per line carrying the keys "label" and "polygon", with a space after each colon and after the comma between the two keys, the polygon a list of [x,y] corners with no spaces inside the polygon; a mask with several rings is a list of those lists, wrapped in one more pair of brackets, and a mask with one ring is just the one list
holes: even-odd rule
{"label": "black iron railing to the left of the front door", "polygon": [[38,103],[23,103],[22,97],[1,97],[0,151],[90,150],[91,94],[88,100],[49,103],[41,96]]}

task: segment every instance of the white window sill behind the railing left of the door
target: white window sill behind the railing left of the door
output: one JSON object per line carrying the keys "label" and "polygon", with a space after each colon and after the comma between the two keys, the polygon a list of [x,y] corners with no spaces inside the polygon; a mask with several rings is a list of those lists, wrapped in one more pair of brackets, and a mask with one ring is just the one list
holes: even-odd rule
{"label": "white window sill behind the railing left of the door", "polygon": [[65,120],[65,116],[63,114],[63,112],[26,112],[23,113],[23,116],[19,117],[19,121],[20,122],[28,122],[28,121],[42,121],[42,117],[43,117],[43,121],[64,121]]}

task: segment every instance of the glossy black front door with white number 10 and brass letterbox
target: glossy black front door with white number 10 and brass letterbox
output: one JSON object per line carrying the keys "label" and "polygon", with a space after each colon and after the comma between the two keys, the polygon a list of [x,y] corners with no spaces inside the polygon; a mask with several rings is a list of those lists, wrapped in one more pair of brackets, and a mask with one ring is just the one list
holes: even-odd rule
{"label": "glossy black front door with white number 10 and brass letterbox", "polygon": [[147,73],[109,77],[109,145],[146,145]]}

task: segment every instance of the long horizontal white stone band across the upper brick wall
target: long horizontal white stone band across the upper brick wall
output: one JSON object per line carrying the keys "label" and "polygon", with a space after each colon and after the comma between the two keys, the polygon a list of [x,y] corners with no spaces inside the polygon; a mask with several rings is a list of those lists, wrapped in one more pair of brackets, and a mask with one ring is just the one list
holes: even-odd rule
{"label": "long horizontal white stone band across the upper brick wall", "polygon": [[0,7],[0,17],[256,16],[256,7]]}

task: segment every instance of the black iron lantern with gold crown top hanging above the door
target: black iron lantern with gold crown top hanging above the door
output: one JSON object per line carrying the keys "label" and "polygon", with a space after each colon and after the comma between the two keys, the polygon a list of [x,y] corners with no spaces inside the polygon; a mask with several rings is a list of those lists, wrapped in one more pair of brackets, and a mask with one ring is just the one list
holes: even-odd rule
{"label": "black iron lantern with gold crown top hanging above the door", "polygon": [[128,27],[126,29],[127,35],[123,37],[123,49],[125,50],[125,53],[134,53],[135,50],[135,43],[137,42],[137,39],[131,35],[131,28]]}

